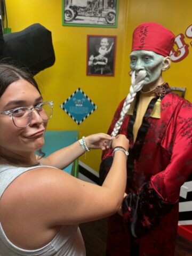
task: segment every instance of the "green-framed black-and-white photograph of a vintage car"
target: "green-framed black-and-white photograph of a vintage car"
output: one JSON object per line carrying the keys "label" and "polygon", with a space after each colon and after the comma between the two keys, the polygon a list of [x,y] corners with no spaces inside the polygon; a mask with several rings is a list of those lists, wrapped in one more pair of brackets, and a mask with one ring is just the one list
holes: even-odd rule
{"label": "green-framed black-and-white photograph of a vintage car", "polygon": [[118,0],[62,0],[62,25],[117,27]]}

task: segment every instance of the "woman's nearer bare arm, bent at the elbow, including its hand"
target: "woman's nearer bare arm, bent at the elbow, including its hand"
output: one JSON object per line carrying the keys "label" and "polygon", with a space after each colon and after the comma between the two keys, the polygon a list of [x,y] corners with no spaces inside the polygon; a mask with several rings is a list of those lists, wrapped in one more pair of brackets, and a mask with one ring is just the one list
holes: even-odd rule
{"label": "woman's nearer bare arm, bent at the elbow, including its hand", "polygon": [[[113,139],[113,148],[117,146],[127,150],[129,140],[118,135]],[[21,206],[22,215],[27,219],[30,216],[30,221],[49,227],[92,221],[115,213],[121,205],[126,185],[126,156],[120,150],[115,152],[102,187],[49,167],[23,173],[13,185],[17,182],[21,182],[17,184],[21,188],[17,207]]]}

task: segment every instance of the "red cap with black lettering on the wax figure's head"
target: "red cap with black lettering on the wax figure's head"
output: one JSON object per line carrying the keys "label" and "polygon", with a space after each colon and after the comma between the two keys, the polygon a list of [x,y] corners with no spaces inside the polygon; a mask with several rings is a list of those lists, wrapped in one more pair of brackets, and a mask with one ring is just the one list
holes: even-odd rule
{"label": "red cap with black lettering on the wax figure's head", "polygon": [[174,39],[174,34],[158,23],[141,23],[133,32],[132,51],[146,50],[169,56]]}

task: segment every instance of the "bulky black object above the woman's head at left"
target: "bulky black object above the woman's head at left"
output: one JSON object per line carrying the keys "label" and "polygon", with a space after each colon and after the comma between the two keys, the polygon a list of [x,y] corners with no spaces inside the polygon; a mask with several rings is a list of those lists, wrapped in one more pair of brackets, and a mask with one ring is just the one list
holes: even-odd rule
{"label": "bulky black object above the woman's head at left", "polygon": [[41,24],[33,24],[19,32],[3,35],[1,52],[3,62],[20,62],[33,75],[55,62],[51,31]]}

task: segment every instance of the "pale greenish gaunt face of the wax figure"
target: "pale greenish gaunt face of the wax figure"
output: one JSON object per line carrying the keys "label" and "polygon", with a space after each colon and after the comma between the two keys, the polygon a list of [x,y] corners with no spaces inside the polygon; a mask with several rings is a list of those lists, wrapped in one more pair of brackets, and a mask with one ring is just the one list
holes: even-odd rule
{"label": "pale greenish gaunt face of the wax figure", "polygon": [[161,77],[164,69],[164,59],[166,57],[159,55],[152,51],[132,51],[130,54],[130,67],[132,71],[135,70],[135,75],[139,70],[145,70],[147,75],[145,77],[145,85],[154,85]]}

